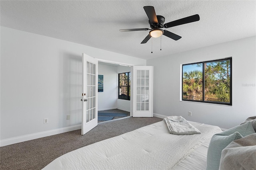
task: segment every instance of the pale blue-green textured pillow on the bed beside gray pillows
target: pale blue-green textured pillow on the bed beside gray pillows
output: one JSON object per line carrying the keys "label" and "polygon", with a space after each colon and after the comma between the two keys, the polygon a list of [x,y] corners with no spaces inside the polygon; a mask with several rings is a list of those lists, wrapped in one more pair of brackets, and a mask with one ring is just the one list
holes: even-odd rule
{"label": "pale blue-green textured pillow on the bed beside gray pillows", "polygon": [[253,133],[255,133],[255,131],[252,127],[252,123],[247,122],[213,135],[208,147],[206,170],[218,170],[222,150],[232,141]]}

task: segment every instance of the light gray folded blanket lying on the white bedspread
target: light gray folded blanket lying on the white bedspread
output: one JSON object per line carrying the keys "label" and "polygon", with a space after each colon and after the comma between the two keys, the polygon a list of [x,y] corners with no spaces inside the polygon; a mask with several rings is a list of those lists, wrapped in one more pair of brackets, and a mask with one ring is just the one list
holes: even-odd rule
{"label": "light gray folded blanket lying on the white bedspread", "polygon": [[193,135],[201,133],[182,116],[168,116],[165,117],[163,121],[166,123],[169,132],[174,135]]}

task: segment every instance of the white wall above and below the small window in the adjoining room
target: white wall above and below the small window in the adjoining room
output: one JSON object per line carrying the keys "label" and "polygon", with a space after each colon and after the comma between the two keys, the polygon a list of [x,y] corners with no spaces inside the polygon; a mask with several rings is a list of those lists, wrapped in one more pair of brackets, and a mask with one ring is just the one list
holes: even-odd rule
{"label": "white wall above and below the small window in the adjoining room", "polygon": [[[131,67],[129,66],[118,66],[117,73],[130,72]],[[117,97],[118,98],[118,97]],[[130,112],[130,100],[117,99],[117,108],[124,111]]]}

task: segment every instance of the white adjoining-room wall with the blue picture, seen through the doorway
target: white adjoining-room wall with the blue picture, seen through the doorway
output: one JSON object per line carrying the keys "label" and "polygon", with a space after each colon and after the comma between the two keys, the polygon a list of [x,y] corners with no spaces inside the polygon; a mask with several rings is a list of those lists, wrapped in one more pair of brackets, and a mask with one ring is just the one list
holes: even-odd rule
{"label": "white adjoining-room wall with the blue picture, seen through the doorway", "polygon": [[118,93],[117,66],[99,64],[98,74],[103,75],[103,92],[98,92],[98,111],[116,109]]}

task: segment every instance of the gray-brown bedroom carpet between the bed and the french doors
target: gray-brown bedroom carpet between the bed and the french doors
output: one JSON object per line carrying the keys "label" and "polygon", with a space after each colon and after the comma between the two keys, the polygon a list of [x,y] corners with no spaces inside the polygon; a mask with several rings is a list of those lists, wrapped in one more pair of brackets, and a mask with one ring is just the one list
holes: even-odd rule
{"label": "gray-brown bedroom carpet between the bed and the french doors", "polygon": [[162,121],[162,119],[158,117],[130,117],[99,124],[83,136],[81,130],[76,130],[0,147],[0,169],[40,170],[67,152],[158,121]]}

